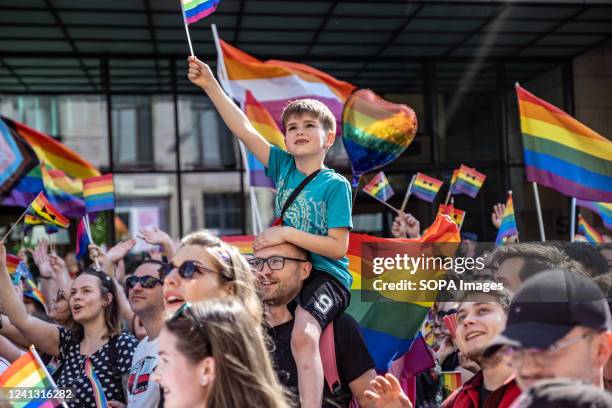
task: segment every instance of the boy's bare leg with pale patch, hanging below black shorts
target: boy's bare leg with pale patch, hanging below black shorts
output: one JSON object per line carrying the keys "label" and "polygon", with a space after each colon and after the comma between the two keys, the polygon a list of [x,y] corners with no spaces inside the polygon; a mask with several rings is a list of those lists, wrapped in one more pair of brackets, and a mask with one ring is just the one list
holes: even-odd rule
{"label": "boy's bare leg with pale patch, hanging below black shorts", "polygon": [[323,402],[323,363],[319,352],[321,326],[317,319],[298,306],[291,333],[291,352],[298,371],[302,408],[320,408]]}

